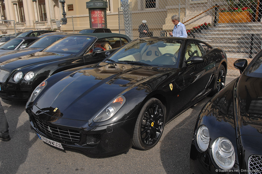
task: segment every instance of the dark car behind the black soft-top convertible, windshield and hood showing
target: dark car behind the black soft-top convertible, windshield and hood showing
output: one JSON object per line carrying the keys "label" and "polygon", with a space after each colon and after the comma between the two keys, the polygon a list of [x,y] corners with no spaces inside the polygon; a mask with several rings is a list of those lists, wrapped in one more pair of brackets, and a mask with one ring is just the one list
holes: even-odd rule
{"label": "dark car behind the black soft-top convertible, windshield and hood showing", "polygon": [[[26,55],[30,55],[30,54],[34,54],[36,52],[42,51],[46,47],[48,47],[49,45],[51,45],[52,43],[54,43],[55,41],[61,39],[62,37],[66,35],[67,33],[48,35],[46,37],[43,37],[43,38],[40,38],[34,41],[33,43],[27,45],[25,48],[21,48],[18,50],[12,50],[8,52],[7,54],[1,54],[0,63],[7,61],[9,59],[13,59],[13,58],[20,59],[21,56],[26,56]],[[28,37],[28,38],[32,38],[32,37]]]}

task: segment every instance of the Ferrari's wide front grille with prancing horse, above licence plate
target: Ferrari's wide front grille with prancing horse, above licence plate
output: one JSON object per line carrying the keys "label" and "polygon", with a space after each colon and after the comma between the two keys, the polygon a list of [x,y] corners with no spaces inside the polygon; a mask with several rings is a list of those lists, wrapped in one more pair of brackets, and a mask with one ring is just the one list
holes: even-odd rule
{"label": "Ferrari's wide front grille with prancing horse, above licence plate", "polygon": [[47,124],[40,122],[37,118],[35,118],[35,122],[42,133],[52,136],[53,138],[69,142],[80,141],[80,133],[78,131],[48,126]]}

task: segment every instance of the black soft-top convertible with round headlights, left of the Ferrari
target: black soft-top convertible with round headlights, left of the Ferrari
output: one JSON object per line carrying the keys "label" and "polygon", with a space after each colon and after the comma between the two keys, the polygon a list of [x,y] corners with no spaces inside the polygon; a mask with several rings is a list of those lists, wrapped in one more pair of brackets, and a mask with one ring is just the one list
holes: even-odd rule
{"label": "black soft-top convertible with round headlights, left of the Ferrari", "polygon": [[47,77],[66,69],[98,63],[117,50],[121,43],[129,41],[128,36],[116,33],[72,34],[41,52],[4,61],[0,64],[0,97],[27,101],[36,86]]}

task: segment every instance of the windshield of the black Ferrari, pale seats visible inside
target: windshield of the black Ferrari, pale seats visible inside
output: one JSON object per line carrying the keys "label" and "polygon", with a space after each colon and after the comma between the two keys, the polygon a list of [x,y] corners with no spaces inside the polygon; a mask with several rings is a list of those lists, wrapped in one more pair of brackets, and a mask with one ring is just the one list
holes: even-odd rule
{"label": "windshield of the black Ferrari, pale seats visible inside", "polygon": [[[172,39],[140,39],[127,43],[113,53],[107,62],[140,62],[150,66],[176,67],[182,41]],[[131,62],[130,62],[131,61]]]}

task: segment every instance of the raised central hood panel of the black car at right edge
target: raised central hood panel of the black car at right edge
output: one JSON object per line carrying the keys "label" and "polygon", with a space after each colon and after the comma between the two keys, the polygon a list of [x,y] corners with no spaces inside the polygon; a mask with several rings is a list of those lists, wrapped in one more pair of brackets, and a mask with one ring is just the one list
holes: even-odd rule
{"label": "raised central hood panel of the black car at right edge", "polygon": [[237,83],[240,135],[262,137],[262,78],[241,75]]}

